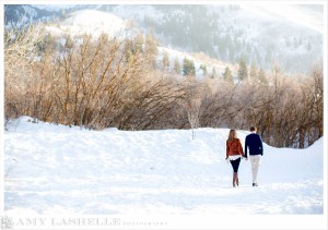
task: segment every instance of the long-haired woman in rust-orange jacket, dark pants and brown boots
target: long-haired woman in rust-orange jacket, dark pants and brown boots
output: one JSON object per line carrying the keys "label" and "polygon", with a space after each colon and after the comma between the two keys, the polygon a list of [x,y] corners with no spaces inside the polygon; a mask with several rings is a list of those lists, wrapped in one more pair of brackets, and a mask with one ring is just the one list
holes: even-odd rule
{"label": "long-haired woman in rust-orange jacket, dark pants and brown boots", "polygon": [[237,138],[237,132],[230,130],[229,138],[226,140],[226,157],[230,160],[234,174],[233,174],[233,186],[239,185],[238,168],[241,164],[241,157],[245,157],[241,140]]}

